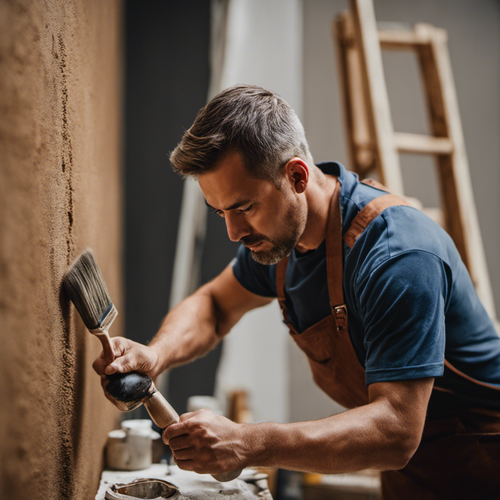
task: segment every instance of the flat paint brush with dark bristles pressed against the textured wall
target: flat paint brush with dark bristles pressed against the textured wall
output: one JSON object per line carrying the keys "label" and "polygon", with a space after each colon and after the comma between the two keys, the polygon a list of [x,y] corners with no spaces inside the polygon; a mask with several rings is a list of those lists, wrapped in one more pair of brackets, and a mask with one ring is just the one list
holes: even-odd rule
{"label": "flat paint brush with dark bristles pressed against the textured wall", "polygon": [[88,331],[101,341],[106,363],[113,362],[114,351],[107,330],[118,311],[111,302],[91,249],[85,250],[72,263],[62,282]]}

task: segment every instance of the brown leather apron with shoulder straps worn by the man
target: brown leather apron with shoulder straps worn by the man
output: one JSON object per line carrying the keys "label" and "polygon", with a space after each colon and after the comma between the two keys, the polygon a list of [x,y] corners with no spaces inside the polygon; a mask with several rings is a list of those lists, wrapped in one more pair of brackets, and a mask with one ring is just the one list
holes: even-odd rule
{"label": "brown leather apron with shoulder straps worn by the man", "polygon": [[[371,179],[363,182],[386,190]],[[343,298],[342,239],[352,247],[366,226],[385,208],[408,205],[393,194],[372,199],[354,217],[342,238],[340,182],[330,202],[326,230],[326,275],[331,314],[302,333],[288,320],[284,281],[288,258],[276,266],[276,290],[291,337],[305,352],[316,384],[347,408],[368,403],[364,368],[350,341]],[[446,360],[447,368],[460,374]],[[464,374],[469,380],[475,381]],[[480,383],[480,382],[477,382]],[[494,386],[490,386],[497,389]],[[447,390],[434,386],[444,397]],[[498,389],[500,396],[500,389]],[[382,472],[384,500],[500,499],[500,412],[457,408],[445,418],[426,419],[421,443],[401,470]]]}

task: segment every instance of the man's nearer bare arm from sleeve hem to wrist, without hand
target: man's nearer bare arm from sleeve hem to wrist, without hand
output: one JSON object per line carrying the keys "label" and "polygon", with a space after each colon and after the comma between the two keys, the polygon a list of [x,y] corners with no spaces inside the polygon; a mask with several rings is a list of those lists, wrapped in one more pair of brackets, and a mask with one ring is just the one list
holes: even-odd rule
{"label": "man's nearer bare arm from sleeve hem to wrist, without hand", "polygon": [[373,383],[364,406],[321,420],[262,424],[249,461],[322,473],[402,468],[420,442],[433,380]]}

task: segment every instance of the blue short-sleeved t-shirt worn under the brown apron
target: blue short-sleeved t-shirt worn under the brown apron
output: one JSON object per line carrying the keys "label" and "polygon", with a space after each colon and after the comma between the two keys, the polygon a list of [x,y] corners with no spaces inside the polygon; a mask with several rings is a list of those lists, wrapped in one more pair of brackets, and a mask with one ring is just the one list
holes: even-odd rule
{"label": "blue short-sleeved t-shirt worn under the brown apron", "polygon": [[[386,194],[358,181],[340,163],[320,163],[341,182],[342,233],[373,198]],[[343,243],[343,290],[349,335],[366,385],[441,377],[436,384],[470,404],[500,408],[500,391],[480,387],[455,368],[500,388],[500,337],[480,303],[449,235],[410,206],[386,208],[352,248]],[[258,295],[276,296],[276,265],[255,262],[241,245],[236,279]],[[325,241],[290,253],[285,275],[288,318],[300,333],[330,314]]]}

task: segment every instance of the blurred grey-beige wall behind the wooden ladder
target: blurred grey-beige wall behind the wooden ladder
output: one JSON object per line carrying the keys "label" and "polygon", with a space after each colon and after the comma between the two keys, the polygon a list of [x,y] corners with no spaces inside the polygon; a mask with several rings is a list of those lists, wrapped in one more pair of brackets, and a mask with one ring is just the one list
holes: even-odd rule
{"label": "blurred grey-beige wall behind the wooden ladder", "polygon": [[[472,188],[491,285],[500,314],[500,3],[495,0],[374,0],[379,21],[430,22],[446,28],[463,124]],[[348,166],[337,61],[331,36],[335,15],[347,1],[303,0],[303,123],[316,161]],[[398,131],[427,130],[416,60],[384,53],[385,78]],[[430,158],[402,158],[406,194],[435,206],[437,188]],[[314,387],[303,355],[290,343],[290,417],[318,418],[336,407]]]}

